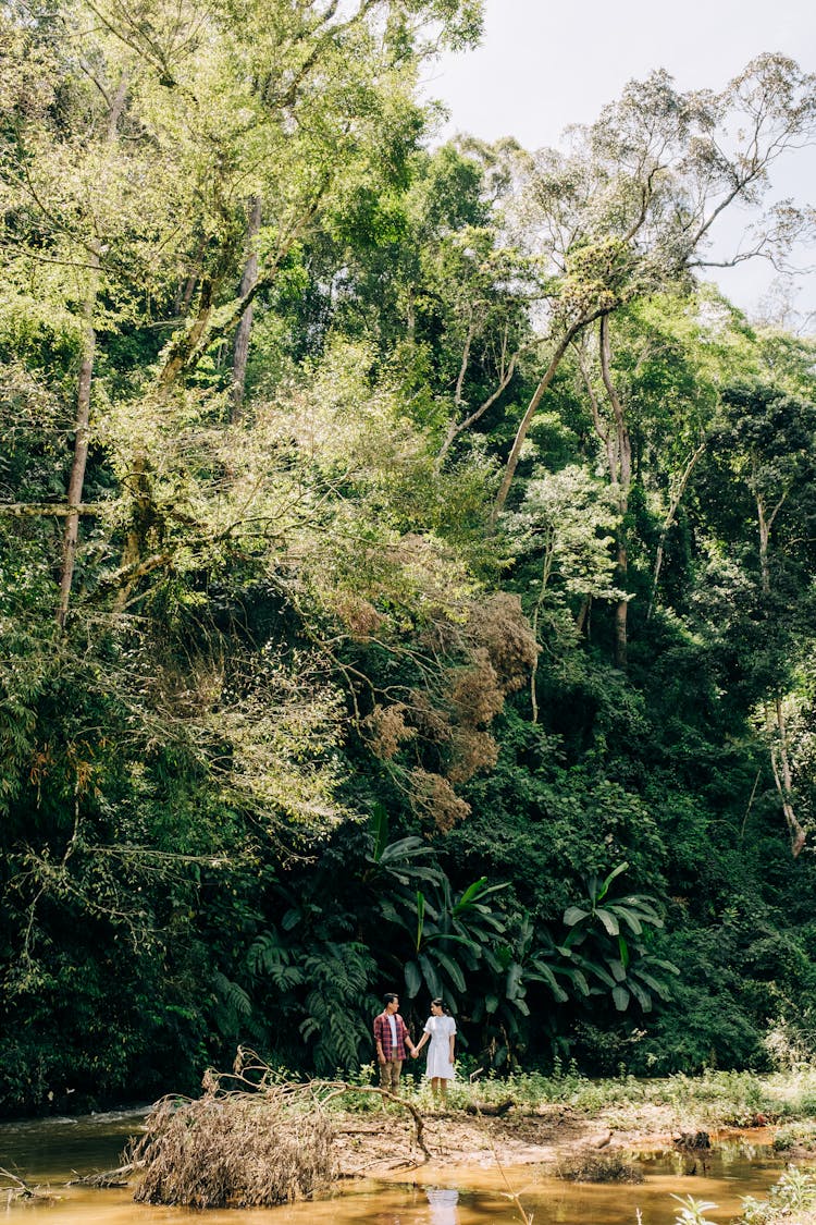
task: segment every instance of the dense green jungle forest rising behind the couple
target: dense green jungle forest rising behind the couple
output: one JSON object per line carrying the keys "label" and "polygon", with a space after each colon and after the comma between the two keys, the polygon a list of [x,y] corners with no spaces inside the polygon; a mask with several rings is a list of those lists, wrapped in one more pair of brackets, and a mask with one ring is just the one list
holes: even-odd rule
{"label": "dense green jungle forest rising behind the couple", "polygon": [[437,147],[476,0],[4,0],[0,1109],[816,1054],[816,81]]}

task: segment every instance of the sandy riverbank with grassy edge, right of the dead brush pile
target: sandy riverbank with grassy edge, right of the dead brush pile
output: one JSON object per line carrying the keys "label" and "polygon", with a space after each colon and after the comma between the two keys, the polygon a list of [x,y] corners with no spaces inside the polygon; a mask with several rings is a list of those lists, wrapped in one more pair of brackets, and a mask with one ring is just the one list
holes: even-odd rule
{"label": "sandy riverbank with grassy edge, right of the dead brush pile", "polygon": [[405,1096],[422,1115],[427,1153],[409,1110],[361,1099],[333,1120],[341,1177],[531,1164],[565,1175],[585,1166],[598,1177],[606,1165],[614,1177],[625,1176],[632,1153],[675,1152],[691,1167],[705,1160],[706,1143],[736,1140],[816,1159],[816,1069],[809,1066],[659,1080],[522,1074],[459,1085],[444,1110],[434,1109],[427,1088],[410,1083]]}

